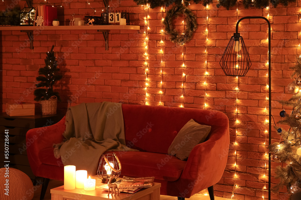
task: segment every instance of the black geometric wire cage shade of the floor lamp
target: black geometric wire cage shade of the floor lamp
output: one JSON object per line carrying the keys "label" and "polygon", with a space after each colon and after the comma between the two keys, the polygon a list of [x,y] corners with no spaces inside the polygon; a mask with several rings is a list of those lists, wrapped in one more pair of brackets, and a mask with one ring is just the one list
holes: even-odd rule
{"label": "black geometric wire cage shade of the floor lamp", "polygon": [[234,33],[219,64],[227,76],[245,76],[252,63],[244,39]]}

